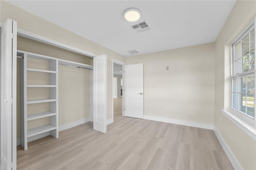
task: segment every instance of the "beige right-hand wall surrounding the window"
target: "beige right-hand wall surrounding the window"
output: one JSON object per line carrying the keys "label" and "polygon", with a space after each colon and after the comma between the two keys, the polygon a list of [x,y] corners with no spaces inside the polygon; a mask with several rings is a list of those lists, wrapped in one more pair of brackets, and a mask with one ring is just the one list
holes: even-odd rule
{"label": "beige right-hand wall surrounding the window", "polygon": [[[243,169],[256,169],[256,142],[222,115],[230,107],[230,45],[256,16],[256,1],[237,1],[215,42],[215,126]],[[221,119],[221,124],[220,124]]]}

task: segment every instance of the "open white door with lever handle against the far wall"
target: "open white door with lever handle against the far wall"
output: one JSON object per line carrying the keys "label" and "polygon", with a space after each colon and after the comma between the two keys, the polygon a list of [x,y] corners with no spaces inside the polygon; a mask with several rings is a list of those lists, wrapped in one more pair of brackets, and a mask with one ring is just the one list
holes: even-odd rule
{"label": "open white door with lever handle against the far wall", "polygon": [[143,63],[124,65],[124,116],[143,119]]}

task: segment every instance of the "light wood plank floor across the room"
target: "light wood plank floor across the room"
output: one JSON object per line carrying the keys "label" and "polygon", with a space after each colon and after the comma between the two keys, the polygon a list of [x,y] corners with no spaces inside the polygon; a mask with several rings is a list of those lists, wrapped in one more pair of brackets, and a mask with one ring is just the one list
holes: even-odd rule
{"label": "light wood plank floor across the room", "polygon": [[86,123],[17,147],[17,169],[234,169],[213,130],[122,117],[114,99],[107,133]]}

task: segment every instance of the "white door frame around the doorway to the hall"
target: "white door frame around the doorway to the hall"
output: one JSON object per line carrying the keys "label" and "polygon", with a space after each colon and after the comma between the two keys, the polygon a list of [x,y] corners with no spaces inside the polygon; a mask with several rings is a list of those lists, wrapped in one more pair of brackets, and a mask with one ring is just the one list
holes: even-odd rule
{"label": "white door frame around the doorway to the hall", "polygon": [[[126,63],[112,59],[112,119],[107,120],[107,125],[114,122],[114,63],[122,66],[126,65]],[[124,71],[122,71],[122,79],[124,81]],[[123,87],[124,87],[124,84],[123,84]],[[124,91],[123,91],[123,96],[124,96]],[[124,116],[124,97],[122,97],[122,116]]]}

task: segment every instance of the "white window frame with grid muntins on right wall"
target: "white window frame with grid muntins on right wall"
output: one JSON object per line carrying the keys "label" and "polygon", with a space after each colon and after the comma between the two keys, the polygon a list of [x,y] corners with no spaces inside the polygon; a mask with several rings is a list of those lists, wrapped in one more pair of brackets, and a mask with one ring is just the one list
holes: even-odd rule
{"label": "white window frame with grid muntins on right wall", "polygon": [[[251,117],[250,115],[247,115],[246,114],[246,111],[245,111],[245,113],[243,113],[242,111],[239,111],[239,108],[238,109],[236,109],[236,108],[234,108],[233,107],[233,94],[234,93],[236,93],[236,94],[238,94],[238,95],[250,95],[249,93],[247,93],[247,91],[245,92],[245,93],[243,93],[243,92],[234,92],[233,91],[233,82],[234,82],[234,79],[236,78],[236,79],[238,79],[238,81],[240,81],[240,78],[242,78],[242,77],[247,77],[247,75],[254,75],[254,85],[256,84],[256,77],[255,77],[255,67],[254,67],[254,69],[253,70],[249,70],[249,71],[245,71],[245,72],[241,72],[241,73],[237,73],[236,74],[236,67],[235,67],[235,61],[237,61],[237,60],[239,60],[239,59],[241,59],[241,67],[242,67],[242,55],[241,55],[241,57],[239,58],[239,59],[235,59],[235,56],[234,56],[234,53],[235,53],[235,45],[237,45],[239,42],[241,42],[242,41],[242,39],[243,38],[245,38],[248,34],[249,34],[249,40],[250,40],[250,32],[252,31],[252,30],[254,30],[254,50],[253,50],[253,52],[254,52],[254,57],[255,57],[255,25],[254,25],[254,23],[252,24],[252,25],[250,25],[250,27],[232,44],[232,46],[231,46],[231,49],[232,49],[232,76],[231,76],[231,85],[232,85],[232,91],[231,91],[231,94],[232,94],[232,97],[231,97],[231,108],[233,109],[233,110],[235,110],[236,112],[238,112],[238,113],[240,113],[240,114],[242,114],[242,115],[244,115],[244,116],[246,116],[246,117],[248,117],[248,118],[250,118],[250,119],[252,119],[253,121],[253,123],[255,124],[255,115],[256,115],[256,110],[255,110],[255,104],[256,104],[256,98],[255,98],[255,93],[254,93],[254,117]],[[242,50],[242,49],[241,49]],[[249,41],[249,50],[250,50],[250,41]],[[252,52],[252,51],[250,51],[250,52]],[[242,53],[242,51],[241,51],[241,53]],[[249,53],[248,53],[249,54]],[[242,69],[242,68],[241,68]],[[238,83],[238,84],[240,84],[240,83]],[[247,85],[247,83],[246,83],[246,85]],[[247,88],[247,87],[246,87]],[[239,91],[239,90],[238,90]],[[255,92],[255,89],[254,89],[254,92]],[[239,98],[240,99],[240,98]],[[247,101],[246,101],[247,102]],[[238,103],[240,103],[240,102],[238,102]],[[240,107],[240,105],[239,105],[239,107]],[[247,107],[245,107],[246,108],[246,110],[247,110]],[[246,119],[246,118],[245,118]],[[250,119],[248,119],[248,121],[251,121]]]}

